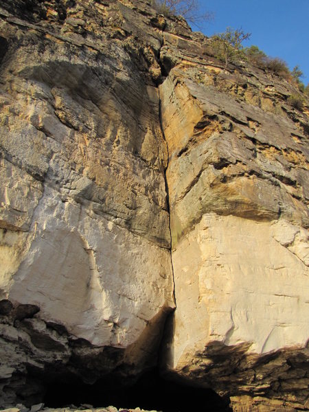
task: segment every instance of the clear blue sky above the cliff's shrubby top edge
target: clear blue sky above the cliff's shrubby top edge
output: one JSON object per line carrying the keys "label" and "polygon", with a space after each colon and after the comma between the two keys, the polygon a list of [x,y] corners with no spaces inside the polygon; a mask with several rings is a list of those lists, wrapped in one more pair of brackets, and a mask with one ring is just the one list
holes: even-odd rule
{"label": "clear blue sky above the cliff's shrubby top edge", "polygon": [[200,0],[214,19],[193,30],[207,36],[227,27],[251,33],[244,45],[257,45],[268,56],[282,58],[290,69],[299,65],[309,83],[309,0]]}

